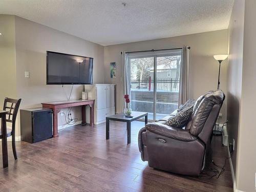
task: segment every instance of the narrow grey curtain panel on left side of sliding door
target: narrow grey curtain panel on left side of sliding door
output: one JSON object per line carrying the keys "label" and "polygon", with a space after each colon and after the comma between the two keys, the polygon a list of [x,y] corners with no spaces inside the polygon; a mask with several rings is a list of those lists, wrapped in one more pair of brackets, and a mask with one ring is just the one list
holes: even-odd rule
{"label": "narrow grey curtain panel on left side of sliding door", "polygon": [[[130,69],[129,69],[129,63],[128,63],[128,57],[127,53],[125,51],[122,52],[122,59],[123,59],[123,96],[125,94],[130,95]],[[123,99],[123,109],[124,109],[125,103]]]}

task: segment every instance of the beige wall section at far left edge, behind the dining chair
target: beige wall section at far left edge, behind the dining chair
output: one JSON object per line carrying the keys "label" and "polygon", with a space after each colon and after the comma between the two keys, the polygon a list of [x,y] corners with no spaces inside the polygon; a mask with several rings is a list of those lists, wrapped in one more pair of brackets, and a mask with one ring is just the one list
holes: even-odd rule
{"label": "beige wall section at far left edge, behind the dining chair", "polygon": [[4,98],[16,98],[15,17],[0,15],[0,109]]}

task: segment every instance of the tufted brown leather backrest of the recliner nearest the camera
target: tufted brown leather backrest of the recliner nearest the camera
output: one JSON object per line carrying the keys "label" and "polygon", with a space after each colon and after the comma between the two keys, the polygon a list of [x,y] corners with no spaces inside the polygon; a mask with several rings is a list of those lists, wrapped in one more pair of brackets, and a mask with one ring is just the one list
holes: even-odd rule
{"label": "tufted brown leather backrest of the recliner nearest the camera", "polygon": [[225,94],[221,90],[211,91],[198,98],[191,119],[185,129],[207,143],[215,126]]}

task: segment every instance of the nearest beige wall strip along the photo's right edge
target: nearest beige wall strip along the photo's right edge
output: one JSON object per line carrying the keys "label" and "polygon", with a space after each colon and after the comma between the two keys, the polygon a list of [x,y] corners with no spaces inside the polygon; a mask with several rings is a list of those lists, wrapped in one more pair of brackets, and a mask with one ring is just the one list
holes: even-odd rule
{"label": "nearest beige wall strip along the photo's right edge", "polygon": [[245,1],[244,12],[244,51],[241,115],[239,129],[237,187],[242,191],[255,191],[256,173],[256,1]]}

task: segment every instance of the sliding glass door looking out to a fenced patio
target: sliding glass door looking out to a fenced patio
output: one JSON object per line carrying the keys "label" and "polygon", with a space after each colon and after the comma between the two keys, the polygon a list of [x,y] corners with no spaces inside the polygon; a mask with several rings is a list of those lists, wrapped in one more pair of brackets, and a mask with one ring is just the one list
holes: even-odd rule
{"label": "sliding glass door looking out to a fenced patio", "polygon": [[178,108],[181,49],[129,54],[133,111],[159,120]]}

